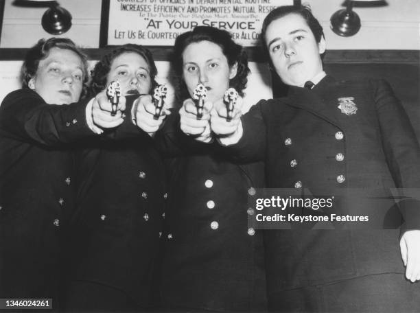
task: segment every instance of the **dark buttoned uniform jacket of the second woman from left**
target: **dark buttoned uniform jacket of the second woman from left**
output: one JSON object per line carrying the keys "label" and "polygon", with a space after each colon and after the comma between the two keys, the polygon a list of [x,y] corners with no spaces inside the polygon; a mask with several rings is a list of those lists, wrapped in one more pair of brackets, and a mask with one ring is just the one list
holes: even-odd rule
{"label": "dark buttoned uniform jacket of the second woman from left", "polygon": [[[133,100],[127,97],[127,112]],[[71,278],[116,288],[147,307],[167,197],[161,156],[129,116],[86,146],[77,157]]]}

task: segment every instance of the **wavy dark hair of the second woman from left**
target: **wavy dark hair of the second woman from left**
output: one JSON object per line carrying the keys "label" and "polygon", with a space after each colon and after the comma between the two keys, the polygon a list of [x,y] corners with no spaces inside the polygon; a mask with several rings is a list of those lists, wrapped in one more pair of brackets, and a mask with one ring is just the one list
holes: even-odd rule
{"label": "wavy dark hair of the second woman from left", "polygon": [[149,49],[141,46],[141,45],[134,45],[132,43],[128,43],[126,45],[121,45],[116,49],[113,49],[108,54],[105,54],[102,59],[96,63],[95,67],[91,71],[92,80],[88,87],[88,94],[89,97],[94,97],[97,93],[103,91],[106,87],[106,76],[110,71],[111,64],[113,60],[117,58],[117,56],[121,56],[126,52],[134,52],[139,54],[146,63],[148,63],[149,70],[150,70],[150,79],[152,80],[152,88],[150,89],[149,93],[152,94],[154,88],[158,85],[156,80],[157,69],[156,65],[154,64],[152,53]]}

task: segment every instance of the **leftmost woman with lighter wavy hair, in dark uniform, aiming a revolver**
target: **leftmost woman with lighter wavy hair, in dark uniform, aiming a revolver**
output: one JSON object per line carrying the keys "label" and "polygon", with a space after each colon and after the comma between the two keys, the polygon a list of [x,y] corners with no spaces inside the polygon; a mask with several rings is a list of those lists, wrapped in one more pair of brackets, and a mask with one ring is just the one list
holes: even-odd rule
{"label": "leftmost woman with lighter wavy hair, in dark uniform, aiming a revolver", "polygon": [[27,52],[23,88],[1,104],[0,298],[52,298],[49,308],[58,308],[63,237],[75,207],[71,148],[95,135],[87,101],[79,102],[86,72],[73,41],[41,39]]}

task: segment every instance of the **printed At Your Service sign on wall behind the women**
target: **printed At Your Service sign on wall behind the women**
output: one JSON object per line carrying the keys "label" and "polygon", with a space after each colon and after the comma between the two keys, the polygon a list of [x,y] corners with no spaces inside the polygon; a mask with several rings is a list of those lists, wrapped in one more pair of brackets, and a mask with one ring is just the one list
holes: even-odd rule
{"label": "printed At Your Service sign on wall behind the women", "polygon": [[255,46],[266,15],[293,0],[110,0],[108,45],[174,45],[176,36],[198,25],[227,30],[244,46]]}

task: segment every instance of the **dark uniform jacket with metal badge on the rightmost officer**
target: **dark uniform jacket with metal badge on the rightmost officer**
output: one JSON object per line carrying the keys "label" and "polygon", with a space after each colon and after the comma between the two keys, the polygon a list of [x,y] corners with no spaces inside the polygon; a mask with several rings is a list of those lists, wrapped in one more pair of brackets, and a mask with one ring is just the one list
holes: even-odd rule
{"label": "dark uniform jacket with metal badge on the rightmost officer", "polygon": [[[290,87],[289,97],[254,106],[243,125],[242,139],[228,150],[241,160],[264,159],[267,187],[307,188],[323,196],[371,188],[364,196],[382,199],[390,188],[420,187],[419,143],[383,80],[338,82],[327,76],[311,91]],[[268,296],[365,275],[403,277],[397,227],[404,221],[406,229],[419,229],[420,207],[406,201],[397,211],[394,202],[378,203],[382,210],[373,212],[360,203],[357,212],[352,203],[333,207],[344,215],[372,213],[371,228],[266,231]]]}

